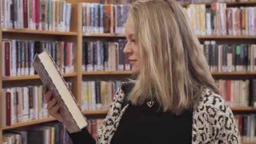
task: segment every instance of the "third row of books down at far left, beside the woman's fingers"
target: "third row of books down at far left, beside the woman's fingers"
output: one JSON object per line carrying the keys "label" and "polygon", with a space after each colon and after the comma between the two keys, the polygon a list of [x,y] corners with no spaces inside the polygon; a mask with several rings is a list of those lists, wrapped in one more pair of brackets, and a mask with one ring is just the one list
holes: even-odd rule
{"label": "third row of books down at far left, beside the woman's fingers", "polygon": [[[72,89],[72,83],[67,82]],[[43,86],[2,89],[2,126],[49,117]]]}

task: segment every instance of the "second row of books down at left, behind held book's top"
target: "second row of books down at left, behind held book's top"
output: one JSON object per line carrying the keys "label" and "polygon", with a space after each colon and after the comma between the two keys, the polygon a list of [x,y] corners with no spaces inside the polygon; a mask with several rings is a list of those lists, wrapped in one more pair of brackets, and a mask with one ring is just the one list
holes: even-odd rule
{"label": "second row of books down at left, behind held book's top", "polygon": [[74,43],[3,39],[2,76],[34,75],[34,55],[48,50],[62,73],[74,72]]}

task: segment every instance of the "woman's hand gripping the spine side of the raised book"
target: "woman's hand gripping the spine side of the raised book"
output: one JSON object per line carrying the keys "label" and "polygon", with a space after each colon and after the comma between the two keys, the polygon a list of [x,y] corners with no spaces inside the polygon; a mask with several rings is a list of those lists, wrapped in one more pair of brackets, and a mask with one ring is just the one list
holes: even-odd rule
{"label": "woman's hand gripping the spine side of the raised book", "polygon": [[43,93],[47,101],[47,110],[49,115],[56,118],[59,122],[63,122],[60,112],[58,111],[60,106],[56,103],[56,99],[52,98],[53,95],[48,91],[46,86],[43,87]]}

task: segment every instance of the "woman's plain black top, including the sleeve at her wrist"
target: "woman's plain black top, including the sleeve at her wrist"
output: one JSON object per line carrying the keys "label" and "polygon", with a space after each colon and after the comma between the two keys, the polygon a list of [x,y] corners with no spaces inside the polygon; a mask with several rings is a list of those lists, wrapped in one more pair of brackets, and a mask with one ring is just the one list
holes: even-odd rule
{"label": "woman's plain black top, including the sleeve at her wrist", "polygon": [[[193,112],[187,111],[180,116],[171,112],[159,112],[159,105],[149,107],[146,103],[129,105],[124,112],[112,144],[120,143],[191,143]],[[73,144],[96,143],[87,129],[69,134]]]}

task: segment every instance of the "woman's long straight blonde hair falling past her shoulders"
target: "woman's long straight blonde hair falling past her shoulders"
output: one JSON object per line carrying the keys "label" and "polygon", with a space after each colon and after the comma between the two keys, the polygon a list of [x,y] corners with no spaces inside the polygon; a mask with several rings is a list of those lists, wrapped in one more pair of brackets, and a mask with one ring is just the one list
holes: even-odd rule
{"label": "woman's long straight blonde hair falling past her shoulders", "polygon": [[132,104],[155,99],[164,112],[180,115],[193,109],[204,88],[219,94],[187,13],[177,2],[137,1],[130,16],[141,64],[129,94]]}

